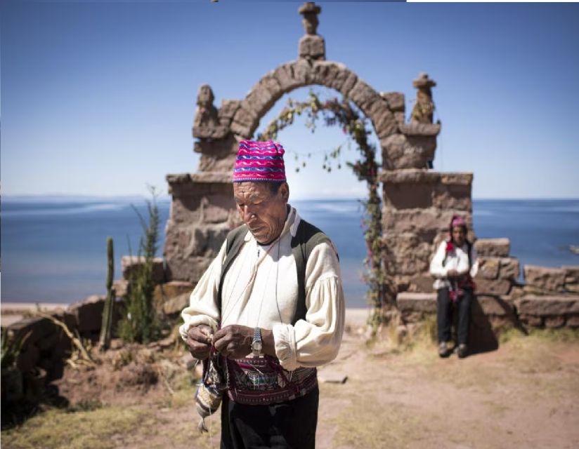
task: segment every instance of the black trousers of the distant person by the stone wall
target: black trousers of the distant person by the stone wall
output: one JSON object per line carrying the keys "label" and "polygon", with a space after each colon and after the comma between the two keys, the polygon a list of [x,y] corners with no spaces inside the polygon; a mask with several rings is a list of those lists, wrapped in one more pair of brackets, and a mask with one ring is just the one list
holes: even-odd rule
{"label": "black trousers of the distant person by the stone wall", "polygon": [[436,311],[438,343],[448,342],[448,340],[450,340],[450,328],[453,325],[453,306],[455,306],[458,307],[458,344],[467,344],[472,297],[472,290],[464,289],[464,295],[453,303],[453,301],[450,300],[448,288],[438,289],[438,308]]}

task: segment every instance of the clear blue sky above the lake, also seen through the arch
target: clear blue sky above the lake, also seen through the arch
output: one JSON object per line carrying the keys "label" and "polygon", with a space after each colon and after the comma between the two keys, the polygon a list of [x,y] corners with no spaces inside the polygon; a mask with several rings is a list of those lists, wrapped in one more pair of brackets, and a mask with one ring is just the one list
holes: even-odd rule
{"label": "clear blue sky above the lake, also seen through the arch", "polygon": [[[199,86],[219,107],[296,59],[300,4],[3,1],[2,194],[167,192],[167,173],[197,169]],[[412,79],[437,81],[436,170],[474,172],[475,198],[579,197],[578,4],[320,5],[327,59],[405,93],[407,114]],[[363,195],[347,170],[321,170],[337,128],[297,123],[279,140],[294,198]],[[315,156],[295,173],[292,152]]]}

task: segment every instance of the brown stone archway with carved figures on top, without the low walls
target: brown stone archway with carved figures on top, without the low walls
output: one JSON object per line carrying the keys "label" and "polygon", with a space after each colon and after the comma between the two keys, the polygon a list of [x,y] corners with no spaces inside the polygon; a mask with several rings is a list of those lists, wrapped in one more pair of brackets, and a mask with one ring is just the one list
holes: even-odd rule
{"label": "brown stone archway with carved figures on top, without the low walls", "polygon": [[[325,41],[316,34],[320,8],[306,3],[299,12],[306,34],[299,41],[297,60],[262,76],[245,98],[223,100],[219,108],[213,104],[212,88],[200,87],[193,124],[200,165],[196,173],[167,175],[173,196],[164,248],[168,277],[196,283],[237,224],[230,173],[239,140],[253,137],[282,95],[320,85],[349,98],[372,122],[382,149],[388,275],[399,290],[428,291],[424,280],[429,257],[448,218],[461,213],[471,222],[472,175],[427,169],[441,130],[440,123],[431,123],[430,87],[436,83],[424,74],[414,81],[419,95],[412,121],[406,123],[403,93],[378,93],[345,65],[325,60]],[[426,107],[417,108],[420,105]]]}

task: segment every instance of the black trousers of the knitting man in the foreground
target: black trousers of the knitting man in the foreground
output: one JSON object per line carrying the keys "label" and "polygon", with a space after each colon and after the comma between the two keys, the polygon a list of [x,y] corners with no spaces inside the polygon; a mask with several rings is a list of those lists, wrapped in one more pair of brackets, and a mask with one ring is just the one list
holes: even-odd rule
{"label": "black trousers of the knitting man in the foreground", "polygon": [[313,449],[318,425],[318,387],[271,406],[246,406],[223,395],[221,449]]}

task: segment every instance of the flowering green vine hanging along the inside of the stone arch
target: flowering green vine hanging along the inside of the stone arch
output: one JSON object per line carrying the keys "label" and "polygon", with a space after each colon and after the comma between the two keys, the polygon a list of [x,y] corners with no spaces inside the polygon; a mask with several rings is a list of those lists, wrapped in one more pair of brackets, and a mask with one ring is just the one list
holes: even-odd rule
{"label": "flowering green vine hanging along the inside of the stone arch", "polygon": [[[386,271],[382,260],[384,249],[382,246],[382,207],[378,194],[376,147],[368,142],[370,131],[366,128],[366,120],[347,98],[321,101],[313,92],[309,93],[308,100],[304,102],[287,100],[287,105],[278,117],[268,124],[264,133],[257,135],[258,140],[275,140],[282,129],[294,123],[294,118],[302,114],[306,116],[306,128],[312,132],[315,131],[318,120],[322,119],[326,126],[339,126],[358,147],[359,159],[354,163],[347,162],[346,165],[353,170],[358,180],[365,181],[367,186],[367,199],[361,201],[365,208],[363,225],[367,248],[367,257],[364,260],[367,272],[364,279],[368,285],[367,300],[375,309],[370,323],[377,326],[382,321],[382,308],[392,305],[394,296],[393,289],[384,275]],[[343,145],[339,145],[329,154],[325,154],[323,169],[328,172],[332,171],[332,159],[337,159],[337,168],[341,168],[339,157],[342,147]],[[308,154],[308,157],[310,156],[311,154]],[[302,166],[305,166],[305,161]]]}

